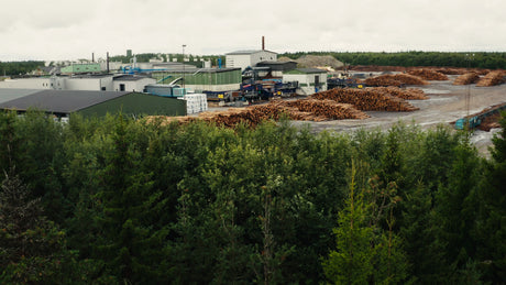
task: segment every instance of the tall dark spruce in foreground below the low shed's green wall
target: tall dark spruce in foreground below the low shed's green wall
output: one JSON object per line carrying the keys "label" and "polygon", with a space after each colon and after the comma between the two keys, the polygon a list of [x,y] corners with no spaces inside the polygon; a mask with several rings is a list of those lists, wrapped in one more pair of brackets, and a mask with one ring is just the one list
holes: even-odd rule
{"label": "tall dark spruce in foreground below the low shed's green wall", "polygon": [[[161,191],[152,188],[148,173],[139,172],[142,152],[136,145],[140,133],[122,116],[112,134],[113,146],[106,157],[97,194],[103,213],[100,219],[102,239],[97,259],[103,259],[110,274],[119,282],[163,282],[166,257],[166,227],[157,228],[163,209]],[[166,281],[166,279],[165,279]]]}

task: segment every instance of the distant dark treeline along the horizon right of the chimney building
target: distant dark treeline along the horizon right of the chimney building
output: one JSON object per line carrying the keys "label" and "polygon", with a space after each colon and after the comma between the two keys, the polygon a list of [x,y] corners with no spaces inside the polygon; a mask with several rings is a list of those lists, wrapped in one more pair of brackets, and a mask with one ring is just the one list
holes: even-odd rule
{"label": "distant dark treeline along the horizon right of the chimney building", "polygon": [[399,52],[399,53],[358,53],[358,52],[299,52],[286,53],[297,59],[300,56],[331,55],[346,65],[380,65],[380,66],[447,66],[447,67],[477,67],[491,69],[506,69],[506,53],[444,53],[444,52]]}

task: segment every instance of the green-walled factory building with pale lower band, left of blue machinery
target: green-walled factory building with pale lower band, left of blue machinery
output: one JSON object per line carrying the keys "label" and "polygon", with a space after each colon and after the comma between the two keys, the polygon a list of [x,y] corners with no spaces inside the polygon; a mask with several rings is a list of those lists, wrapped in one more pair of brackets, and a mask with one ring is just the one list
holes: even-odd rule
{"label": "green-walled factory building with pale lower band, left of blue machinery", "polygon": [[[185,88],[195,92],[222,92],[239,90],[242,83],[240,68],[199,68],[154,72],[153,78],[157,84],[168,85],[174,80],[184,79]],[[178,80],[183,85],[182,80]]]}

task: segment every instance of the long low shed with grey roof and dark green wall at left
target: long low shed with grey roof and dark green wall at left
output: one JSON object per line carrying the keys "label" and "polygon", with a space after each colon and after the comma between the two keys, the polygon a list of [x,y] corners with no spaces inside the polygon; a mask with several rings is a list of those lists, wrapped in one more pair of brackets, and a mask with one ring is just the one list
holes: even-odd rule
{"label": "long low shed with grey roof and dark green wall at left", "polygon": [[135,117],[186,116],[186,101],[139,92],[0,89],[0,109],[18,112],[36,109],[58,118],[68,118],[70,113],[101,117],[119,112]]}

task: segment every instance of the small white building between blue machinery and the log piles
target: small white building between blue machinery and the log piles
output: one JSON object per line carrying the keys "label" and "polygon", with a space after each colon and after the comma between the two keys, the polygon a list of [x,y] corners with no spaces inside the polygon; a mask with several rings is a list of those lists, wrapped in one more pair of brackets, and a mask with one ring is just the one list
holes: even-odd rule
{"label": "small white building between blue machinery and the log piles", "polygon": [[318,68],[297,68],[283,75],[283,83],[298,81],[298,95],[327,90],[327,72]]}

